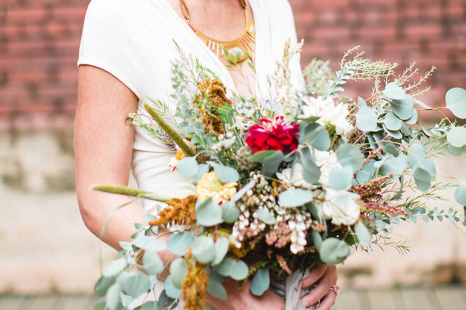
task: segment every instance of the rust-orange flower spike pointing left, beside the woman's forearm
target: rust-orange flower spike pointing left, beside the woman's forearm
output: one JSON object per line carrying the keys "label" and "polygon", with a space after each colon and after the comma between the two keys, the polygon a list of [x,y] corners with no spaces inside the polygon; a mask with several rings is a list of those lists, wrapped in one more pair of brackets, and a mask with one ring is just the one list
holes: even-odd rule
{"label": "rust-orange flower spike pointing left, beside the woman's forearm", "polygon": [[196,221],[197,197],[189,195],[183,199],[172,198],[167,201],[170,207],[159,212],[158,218],[151,220],[149,225],[162,225],[175,223],[178,225],[190,225]]}

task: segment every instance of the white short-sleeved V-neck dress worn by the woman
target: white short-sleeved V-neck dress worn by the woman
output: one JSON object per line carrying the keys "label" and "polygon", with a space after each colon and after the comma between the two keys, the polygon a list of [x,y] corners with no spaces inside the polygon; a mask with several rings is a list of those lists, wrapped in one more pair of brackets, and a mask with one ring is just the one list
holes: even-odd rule
{"label": "white short-sleeved V-neck dress worn by the woman", "polygon": [[[249,2],[256,29],[255,92],[263,97],[266,77],[273,73],[276,60],[281,59],[285,41],[297,43],[295,24],[287,0]],[[77,64],[99,67],[118,78],[137,96],[138,112],[147,114],[143,105],[148,97],[172,107],[176,104],[169,96],[171,61],[178,56],[173,40],[186,54],[198,57],[214,71],[230,93],[235,92],[227,68],[166,0],[91,0]],[[298,55],[292,59],[291,69],[292,81],[299,87],[303,80]],[[172,156],[164,143],[150,137],[144,129],[135,128],[132,170],[139,188],[165,196],[185,196],[183,184],[190,180],[170,171]],[[156,202],[143,204],[146,210],[154,212]]]}

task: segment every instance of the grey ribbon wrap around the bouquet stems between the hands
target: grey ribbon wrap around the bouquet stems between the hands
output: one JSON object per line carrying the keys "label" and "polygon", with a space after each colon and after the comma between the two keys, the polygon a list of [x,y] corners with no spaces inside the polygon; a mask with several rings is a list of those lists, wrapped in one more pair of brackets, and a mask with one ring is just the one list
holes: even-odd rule
{"label": "grey ribbon wrap around the bouquet stems between the hands", "polygon": [[304,308],[301,297],[309,294],[314,286],[301,289],[302,280],[309,276],[309,270],[296,270],[289,276],[270,275],[270,289],[285,300],[285,310],[315,310],[316,305]]}

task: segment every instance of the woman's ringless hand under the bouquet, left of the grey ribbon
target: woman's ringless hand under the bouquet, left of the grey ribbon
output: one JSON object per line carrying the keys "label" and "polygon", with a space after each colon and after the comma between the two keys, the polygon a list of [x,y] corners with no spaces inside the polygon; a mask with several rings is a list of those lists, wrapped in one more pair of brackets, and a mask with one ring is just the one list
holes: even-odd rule
{"label": "woman's ringless hand under the bouquet, left of the grey ribbon", "polygon": [[255,296],[250,292],[250,281],[240,290],[238,282],[227,279],[223,282],[227,291],[227,300],[220,300],[210,295],[207,300],[216,309],[221,310],[250,310],[250,309],[267,309],[267,310],[284,310],[285,302],[283,299],[270,290],[264,292],[262,296]]}

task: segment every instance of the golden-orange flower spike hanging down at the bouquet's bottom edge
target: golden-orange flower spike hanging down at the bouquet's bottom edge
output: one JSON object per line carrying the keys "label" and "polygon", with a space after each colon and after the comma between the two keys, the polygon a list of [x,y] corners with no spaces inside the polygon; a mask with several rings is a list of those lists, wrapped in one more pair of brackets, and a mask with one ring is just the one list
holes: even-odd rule
{"label": "golden-orange flower spike hanging down at the bouquet's bottom edge", "polygon": [[184,309],[204,309],[207,281],[209,279],[209,275],[204,269],[205,265],[197,263],[192,257],[192,247],[186,251],[184,260],[187,268],[182,284]]}

